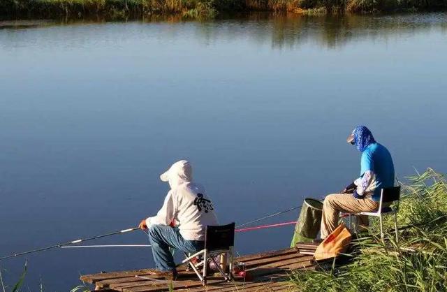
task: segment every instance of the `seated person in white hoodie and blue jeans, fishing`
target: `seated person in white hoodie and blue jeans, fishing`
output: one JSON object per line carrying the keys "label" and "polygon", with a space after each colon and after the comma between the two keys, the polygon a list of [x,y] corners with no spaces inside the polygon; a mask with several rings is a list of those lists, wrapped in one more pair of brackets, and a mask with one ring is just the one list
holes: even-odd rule
{"label": "seated person in white hoodie and blue jeans, fishing", "polygon": [[152,245],[156,269],[149,273],[175,279],[177,271],[169,248],[200,251],[204,247],[206,226],[218,223],[205,189],[192,180],[188,161],[177,161],[160,178],[169,182],[170,191],[156,216],[143,219],[139,226],[148,231]]}

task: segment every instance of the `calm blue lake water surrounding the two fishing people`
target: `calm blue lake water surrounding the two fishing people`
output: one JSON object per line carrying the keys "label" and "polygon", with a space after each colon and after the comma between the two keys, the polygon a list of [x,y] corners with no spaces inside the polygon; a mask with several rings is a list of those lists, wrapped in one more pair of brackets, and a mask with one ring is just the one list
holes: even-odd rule
{"label": "calm blue lake water surrounding the two fishing people", "polygon": [[[161,206],[159,174],[178,159],[221,223],[321,198],[358,175],[346,144],[357,124],[400,178],[447,172],[446,13],[0,28],[0,256],[135,226]],[[287,247],[292,232],[241,233],[236,250]],[[91,242],[131,243],[146,237]],[[153,265],[142,248],[27,260],[30,291]],[[0,263],[7,284],[24,261]]]}

